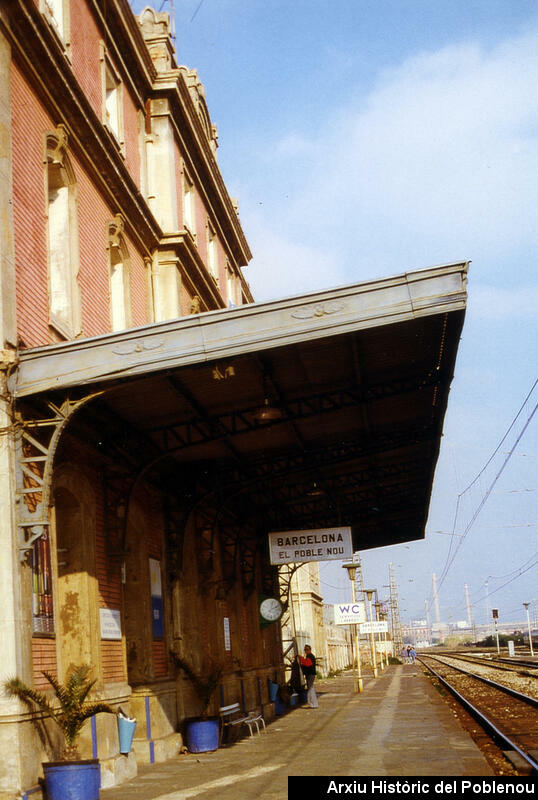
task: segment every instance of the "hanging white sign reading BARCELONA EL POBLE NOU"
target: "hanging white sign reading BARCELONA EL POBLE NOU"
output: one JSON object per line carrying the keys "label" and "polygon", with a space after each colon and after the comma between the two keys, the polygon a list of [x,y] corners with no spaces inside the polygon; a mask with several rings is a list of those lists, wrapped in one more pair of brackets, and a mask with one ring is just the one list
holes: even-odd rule
{"label": "hanging white sign reading BARCELONA EL POBLE NOU", "polygon": [[317,528],[269,533],[271,564],[338,561],[353,556],[351,528]]}

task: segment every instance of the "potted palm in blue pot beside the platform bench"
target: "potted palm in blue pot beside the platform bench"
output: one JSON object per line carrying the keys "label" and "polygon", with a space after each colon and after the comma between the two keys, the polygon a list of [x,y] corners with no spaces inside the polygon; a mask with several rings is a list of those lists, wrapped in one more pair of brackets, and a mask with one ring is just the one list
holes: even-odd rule
{"label": "potted palm in blue pot beside the platform bench", "polygon": [[187,747],[191,753],[216,750],[219,746],[219,719],[209,716],[209,707],[222,677],[222,666],[211,661],[203,673],[198,673],[184,658],[174,652],[171,655],[176,667],[192,683],[200,701],[199,716],[186,721]]}

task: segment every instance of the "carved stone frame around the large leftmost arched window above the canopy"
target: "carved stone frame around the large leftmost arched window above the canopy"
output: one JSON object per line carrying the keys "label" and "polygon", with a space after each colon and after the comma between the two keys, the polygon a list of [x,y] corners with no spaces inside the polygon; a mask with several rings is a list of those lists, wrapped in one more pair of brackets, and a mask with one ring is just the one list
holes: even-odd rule
{"label": "carved stone frame around the large leftmost arched window above the canopy", "polygon": [[[78,274],[80,268],[79,241],[78,241],[78,186],[76,174],[67,152],[68,135],[64,125],[58,125],[56,130],[45,134],[45,218],[47,235],[47,282],[48,282],[48,311],[49,327],[55,338],[74,339],[82,332],[82,310]],[[54,253],[51,236],[51,180],[64,181],[67,190],[67,219],[68,228],[67,260],[64,269],[59,272],[54,268]],[[65,253],[66,249],[61,248]],[[57,313],[54,302],[57,285],[64,281],[65,305],[67,313],[64,317]],[[61,286],[60,286],[61,288]]]}

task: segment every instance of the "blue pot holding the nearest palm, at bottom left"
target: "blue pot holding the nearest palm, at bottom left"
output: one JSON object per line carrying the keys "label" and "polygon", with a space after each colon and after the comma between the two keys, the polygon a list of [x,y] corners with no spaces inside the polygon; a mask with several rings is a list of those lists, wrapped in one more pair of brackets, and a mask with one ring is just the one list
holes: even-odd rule
{"label": "blue pot holding the nearest palm, at bottom left", "polygon": [[99,800],[99,759],[46,761],[43,764],[47,800]]}

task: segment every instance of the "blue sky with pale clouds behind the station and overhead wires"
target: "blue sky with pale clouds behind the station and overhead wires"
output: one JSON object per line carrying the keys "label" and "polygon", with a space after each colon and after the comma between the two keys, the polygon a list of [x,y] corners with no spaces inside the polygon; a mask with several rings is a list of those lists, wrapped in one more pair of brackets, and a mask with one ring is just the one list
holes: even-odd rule
{"label": "blue sky with pale clouds behind the station and overhead wires", "polygon": [[[535,0],[156,0],[196,68],[257,301],[471,261],[424,540],[361,554],[403,622],[538,615]],[[138,13],[145,3],[133,0]],[[533,388],[534,387],[534,388]],[[526,400],[526,402],[524,402]],[[506,435],[506,438],[504,438]],[[490,460],[491,459],[491,460]],[[339,563],[324,599],[349,600]],[[534,601],[534,602],[533,602]]]}

